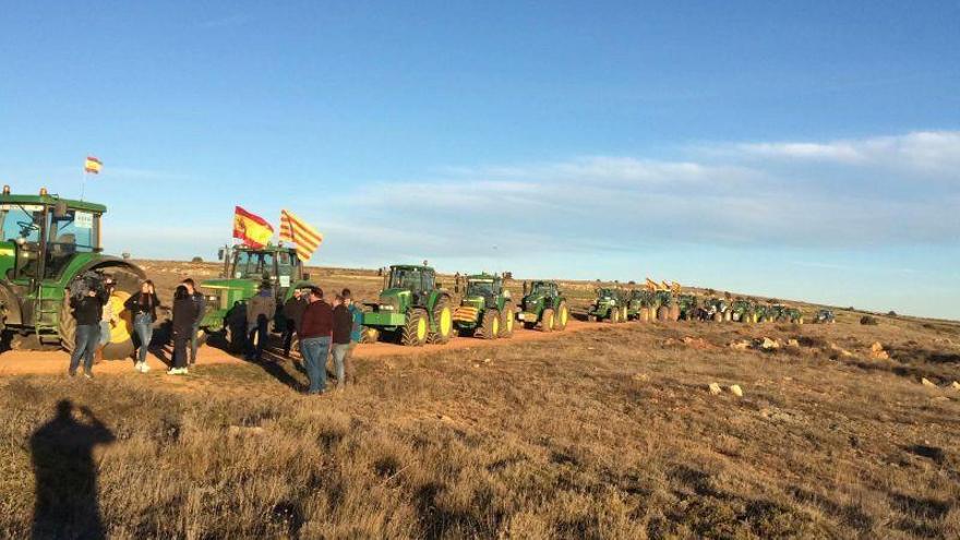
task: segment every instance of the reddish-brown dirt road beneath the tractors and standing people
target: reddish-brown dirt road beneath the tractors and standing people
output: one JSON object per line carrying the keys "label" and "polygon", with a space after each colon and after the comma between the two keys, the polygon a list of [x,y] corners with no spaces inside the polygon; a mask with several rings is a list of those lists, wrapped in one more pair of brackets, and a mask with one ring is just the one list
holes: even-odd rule
{"label": "reddish-brown dirt road beneath the tractors and standing people", "polygon": [[[633,323],[637,324],[637,323]],[[371,359],[384,357],[410,356],[422,352],[470,349],[478,347],[506,347],[518,341],[538,341],[544,339],[555,339],[567,333],[583,332],[599,327],[598,323],[586,323],[583,321],[571,320],[567,327],[563,332],[540,332],[528,331],[517,327],[513,337],[509,339],[477,339],[469,337],[457,337],[446,345],[425,345],[423,347],[403,347],[394,344],[379,343],[361,345],[355,355],[357,359]],[[57,374],[67,371],[70,363],[70,357],[64,351],[23,351],[12,350],[0,355],[0,376],[4,375],[28,375],[28,374]],[[154,355],[149,355],[147,363],[154,370],[165,370],[167,364]],[[243,360],[214,347],[203,347],[200,351],[197,364],[200,367],[209,364],[229,364],[243,363]],[[112,373],[129,373],[133,370],[131,360],[116,360],[100,362],[94,368],[95,375],[105,375]]]}

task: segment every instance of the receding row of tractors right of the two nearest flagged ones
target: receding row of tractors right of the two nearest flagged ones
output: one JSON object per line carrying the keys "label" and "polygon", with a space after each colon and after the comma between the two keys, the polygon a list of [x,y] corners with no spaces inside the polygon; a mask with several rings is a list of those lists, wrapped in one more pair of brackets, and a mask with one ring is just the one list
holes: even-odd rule
{"label": "receding row of tractors right of the two nearest flagged ones", "polygon": [[[569,322],[569,303],[556,281],[525,281],[524,296],[515,301],[500,275],[457,275],[455,280],[451,293],[425,264],[391,266],[384,272],[377,301],[364,304],[364,341],[386,338],[408,346],[444,344],[454,334],[497,339],[511,337],[517,323],[528,329],[554,332],[563,331]],[[601,287],[596,292],[587,310],[591,322],[804,323],[804,314],[796,308],[749,299],[701,298],[685,293],[676,283],[657,284],[649,278],[643,287]],[[821,310],[816,322],[832,323],[833,313]]]}

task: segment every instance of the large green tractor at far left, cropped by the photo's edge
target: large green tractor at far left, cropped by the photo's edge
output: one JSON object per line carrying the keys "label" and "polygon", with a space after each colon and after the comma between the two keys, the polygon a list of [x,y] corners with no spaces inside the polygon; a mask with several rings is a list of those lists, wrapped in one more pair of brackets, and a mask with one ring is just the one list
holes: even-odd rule
{"label": "large green tractor at far left, cropped by the photo's edge", "polygon": [[0,194],[0,329],[13,333],[11,347],[73,350],[76,321],[67,290],[76,279],[110,276],[109,302],[119,322],[104,358],[133,352],[133,322],[123,302],[146,278],[136,265],[103,254],[100,220],[106,206],[39,195]]}

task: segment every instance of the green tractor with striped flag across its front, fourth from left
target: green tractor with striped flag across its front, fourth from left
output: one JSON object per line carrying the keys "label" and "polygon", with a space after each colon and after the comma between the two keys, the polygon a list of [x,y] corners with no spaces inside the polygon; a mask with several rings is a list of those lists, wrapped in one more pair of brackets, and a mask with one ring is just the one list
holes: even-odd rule
{"label": "green tractor with striped flag across its front, fourth from left", "polygon": [[514,334],[514,302],[503,277],[477,274],[457,278],[456,293],[463,293],[454,310],[454,327],[461,336],[483,339],[511,337]]}

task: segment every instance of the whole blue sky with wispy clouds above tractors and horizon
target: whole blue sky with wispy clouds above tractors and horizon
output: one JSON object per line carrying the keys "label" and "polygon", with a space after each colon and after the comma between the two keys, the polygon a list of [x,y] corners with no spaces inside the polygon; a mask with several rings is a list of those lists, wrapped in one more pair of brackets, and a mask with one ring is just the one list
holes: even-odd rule
{"label": "whole blue sky with wispy clouds above tractors and horizon", "polygon": [[0,181],[213,256],[676,279],[960,317],[957,2],[3,2]]}

